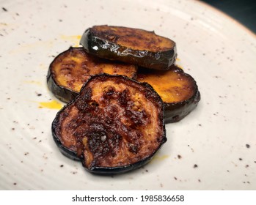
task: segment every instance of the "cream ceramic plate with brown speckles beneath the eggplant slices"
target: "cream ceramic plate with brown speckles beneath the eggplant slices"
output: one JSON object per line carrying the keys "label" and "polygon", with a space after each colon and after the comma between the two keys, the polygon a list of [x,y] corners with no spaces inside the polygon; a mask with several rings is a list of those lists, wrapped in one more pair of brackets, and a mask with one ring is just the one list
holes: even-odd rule
{"label": "cream ceramic plate with brown speckles beneath the eggplant slices", "polygon": [[[0,0],[2,190],[255,190],[255,34],[199,1]],[[51,122],[60,103],[46,86],[54,56],[89,26],[154,30],[177,42],[177,64],[202,94],[167,124],[145,167],[95,176],[59,152]]]}

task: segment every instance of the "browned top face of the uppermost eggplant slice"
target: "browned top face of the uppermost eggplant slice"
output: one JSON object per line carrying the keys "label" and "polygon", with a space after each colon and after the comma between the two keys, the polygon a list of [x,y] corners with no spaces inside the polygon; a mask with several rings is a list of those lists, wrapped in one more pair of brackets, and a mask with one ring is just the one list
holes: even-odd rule
{"label": "browned top face of the uppermost eggplant slice", "polygon": [[175,42],[156,35],[153,31],[132,29],[122,26],[93,26],[91,32],[100,39],[114,42],[139,51],[168,51],[175,47]]}

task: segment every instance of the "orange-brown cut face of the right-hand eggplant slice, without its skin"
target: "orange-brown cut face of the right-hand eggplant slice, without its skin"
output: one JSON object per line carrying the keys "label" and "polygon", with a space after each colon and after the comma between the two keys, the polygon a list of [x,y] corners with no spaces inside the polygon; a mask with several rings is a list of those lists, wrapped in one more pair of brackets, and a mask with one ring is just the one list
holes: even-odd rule
{"label": "orange-brown cut face of the right-hand eggplant slice, without its skin", "polygon": [[180,103],[197,93],[194,79],[175,66],[161,72],[140,69],[137,81],[150,83],[164,103]]}

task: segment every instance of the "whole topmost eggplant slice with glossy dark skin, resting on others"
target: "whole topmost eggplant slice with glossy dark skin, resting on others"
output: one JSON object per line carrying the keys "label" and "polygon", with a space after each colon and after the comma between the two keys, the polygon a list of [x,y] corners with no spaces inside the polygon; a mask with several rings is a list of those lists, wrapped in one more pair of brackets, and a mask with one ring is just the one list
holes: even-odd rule
{"label": "whole topmost eggplant slice with glossy dark skin, resting on others", "polygon": [[168,70],[177,53],[174,41],[154,31],[121,26],[92,26],[81,37],[87,52],[156,70]]}

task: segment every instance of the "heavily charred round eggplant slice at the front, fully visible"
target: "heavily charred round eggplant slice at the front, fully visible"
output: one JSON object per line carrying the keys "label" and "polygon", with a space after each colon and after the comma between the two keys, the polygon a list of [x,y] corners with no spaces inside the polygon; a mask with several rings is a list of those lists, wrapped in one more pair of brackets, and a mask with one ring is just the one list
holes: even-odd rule
{"label": "heavily charred round eggplant slice at the front, fully visible", "polygon": [[164,105],[148,83],[93,75],[59,113],[52,133],[63,154],[95,174],[139,168],[167,141]]}

